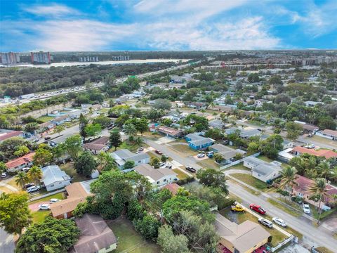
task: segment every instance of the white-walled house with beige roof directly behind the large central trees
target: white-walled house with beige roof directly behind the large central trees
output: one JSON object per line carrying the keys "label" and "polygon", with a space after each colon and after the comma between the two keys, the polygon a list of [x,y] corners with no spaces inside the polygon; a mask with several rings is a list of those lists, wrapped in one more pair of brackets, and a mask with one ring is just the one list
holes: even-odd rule
{"label": "white-walled house with beige roof directly behind the large central trees", "polygon": [[172,169],[159,168],[154,169],[150,164],[139,164],[136,166],[135,171],[140,175],[145,176],[152,186],[165,186],[168,183],[178,181],[177,174]]}

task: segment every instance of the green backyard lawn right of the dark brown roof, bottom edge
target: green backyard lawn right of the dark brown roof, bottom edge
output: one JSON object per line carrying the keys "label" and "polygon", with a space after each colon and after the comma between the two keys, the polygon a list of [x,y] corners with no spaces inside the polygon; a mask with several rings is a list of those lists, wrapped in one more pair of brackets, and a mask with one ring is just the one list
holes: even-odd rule
{"label": "green backyard lawn right of the dark brown roof, bottom edge", "polygon": [[117,237],[117,249],[115,253],[157,253],[159,247],[154,242],[144,240],[133,228],[131,221],[126,218],[118,218],[114,221],[107,221],[108,226],[114,231]]}

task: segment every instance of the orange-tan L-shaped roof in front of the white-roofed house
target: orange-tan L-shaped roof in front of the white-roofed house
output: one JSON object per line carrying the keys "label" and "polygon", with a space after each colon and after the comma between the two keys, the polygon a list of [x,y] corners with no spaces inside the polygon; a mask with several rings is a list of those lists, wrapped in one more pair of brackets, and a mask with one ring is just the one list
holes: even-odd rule
{"label": "orange-tan L-shaped roof in front of the white-roofed house", "polygon": [[54,217],[74,211],[77,205],[85,202],[86,197],[90,195],[79,182],[66,186],[65,190],[68,193],[67,199],[51,204],[51,213]]}

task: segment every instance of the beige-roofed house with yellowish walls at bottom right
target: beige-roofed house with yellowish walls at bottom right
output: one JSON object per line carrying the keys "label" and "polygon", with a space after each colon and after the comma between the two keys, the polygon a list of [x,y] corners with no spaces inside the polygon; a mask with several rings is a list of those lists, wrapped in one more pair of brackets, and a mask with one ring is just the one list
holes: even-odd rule
{"label": "beige-roofed house with yellowish walls at bottom right", "polygon": [[265,245],[270,237],[270,233],[258,223],[244,221],[237,224],[219,213],[216,214],[214,226],[220,236],[220,252],[251,253]]}

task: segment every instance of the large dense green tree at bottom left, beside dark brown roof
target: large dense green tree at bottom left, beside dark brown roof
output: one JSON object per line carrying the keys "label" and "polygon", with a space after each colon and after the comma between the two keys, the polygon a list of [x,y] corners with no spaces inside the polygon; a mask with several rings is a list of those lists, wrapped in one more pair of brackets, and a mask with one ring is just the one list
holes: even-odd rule
{"label": "large dense green tree at bottom left, beside dark brown roof", "polygon": [[47,217],[42,223],[27,228],[18,240],[16,253],[27,252],[67,252],[79,238],[79,228],[71,219]]}

